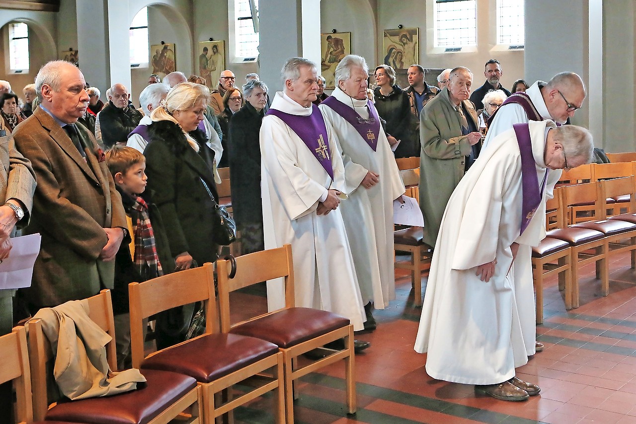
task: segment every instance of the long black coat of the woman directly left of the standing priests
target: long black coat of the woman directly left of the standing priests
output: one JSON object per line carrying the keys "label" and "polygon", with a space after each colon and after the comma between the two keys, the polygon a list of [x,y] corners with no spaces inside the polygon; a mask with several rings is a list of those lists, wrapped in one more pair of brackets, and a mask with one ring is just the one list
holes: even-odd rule
{"label": "long black coat of the woman directly left of the standing priests", "polygon": [[249,103],[230,120],[230,183],[232,210],[237,225],[263,222],[261,203],[261,146],[259,131],[264,111]]}

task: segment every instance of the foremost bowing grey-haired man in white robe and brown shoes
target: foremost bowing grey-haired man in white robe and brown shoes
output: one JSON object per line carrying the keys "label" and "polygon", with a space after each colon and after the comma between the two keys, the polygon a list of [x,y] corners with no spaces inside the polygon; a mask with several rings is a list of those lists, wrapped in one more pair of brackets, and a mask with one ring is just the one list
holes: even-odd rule
{"label": "foremost bowing grey-haired man in white robe and brown shoes", "polygon": [[428,353],[429,376],[501,400],[539,394],[539,386],[515,376],[528,357],[510,270],[545,202],[548,175],[589,163],[592,151],[584,128],[517,124],[459,182],[439,229],[415,339],[415,350]]}

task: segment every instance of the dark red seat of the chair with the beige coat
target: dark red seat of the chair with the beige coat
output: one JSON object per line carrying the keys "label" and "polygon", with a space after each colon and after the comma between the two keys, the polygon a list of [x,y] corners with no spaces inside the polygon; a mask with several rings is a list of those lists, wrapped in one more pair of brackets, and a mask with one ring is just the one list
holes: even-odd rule
{"label": "dark red seat of the chair with the beige coat", "polygon": [[[144,369],[146,383],[137,390],[113,396],[59,402],[46,413],[48,420],[90,424],[148,423],[197,386],[197,381],[183,374]],[[116,401],[115,401],[116,400]]]}

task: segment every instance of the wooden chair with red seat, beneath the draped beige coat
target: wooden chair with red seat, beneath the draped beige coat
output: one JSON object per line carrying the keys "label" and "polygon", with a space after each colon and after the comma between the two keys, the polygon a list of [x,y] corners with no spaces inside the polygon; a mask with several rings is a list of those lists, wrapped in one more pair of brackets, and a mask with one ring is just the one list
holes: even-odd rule
{"label": "wooden chair with red seat, beneath the draped beige coat", "polygon": [[[106,345],[106,357],[111,369],[116,369],[111,293],[109,290],[102,290],[86,301],[88,316],[112,338]],[[183,423],[200,422],[197,381],[189,376],[167,371],[144,370],[142,374],[146,377],[146,383],[138,383],[137,390],[131,392],[49,405],[46,365],[53,358],[53,353],[42,331],[41,320],[27,322],[27,328],[36,420],[46,418],[47,422],[165,424],[180,417],[183,418]]]}

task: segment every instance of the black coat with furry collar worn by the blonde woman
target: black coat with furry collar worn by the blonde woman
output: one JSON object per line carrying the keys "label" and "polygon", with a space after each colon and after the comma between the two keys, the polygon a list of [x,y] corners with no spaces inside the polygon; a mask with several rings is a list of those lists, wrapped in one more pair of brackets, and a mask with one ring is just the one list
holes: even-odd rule
{"label": "black coat with furry collar worn by the blonde woman", "polygon": [[153,193],[165,226],[170,252],[175,257],[188,252],[199,265],[216,260],[212,237],[212,202],[202,179],[218,201],[212,163],[214,151],[205,144],[200,130],[190,132],[199,153],[188,144],[175,123],[153,122],[148,126],[150,142],[146,156],[146,190]]}

